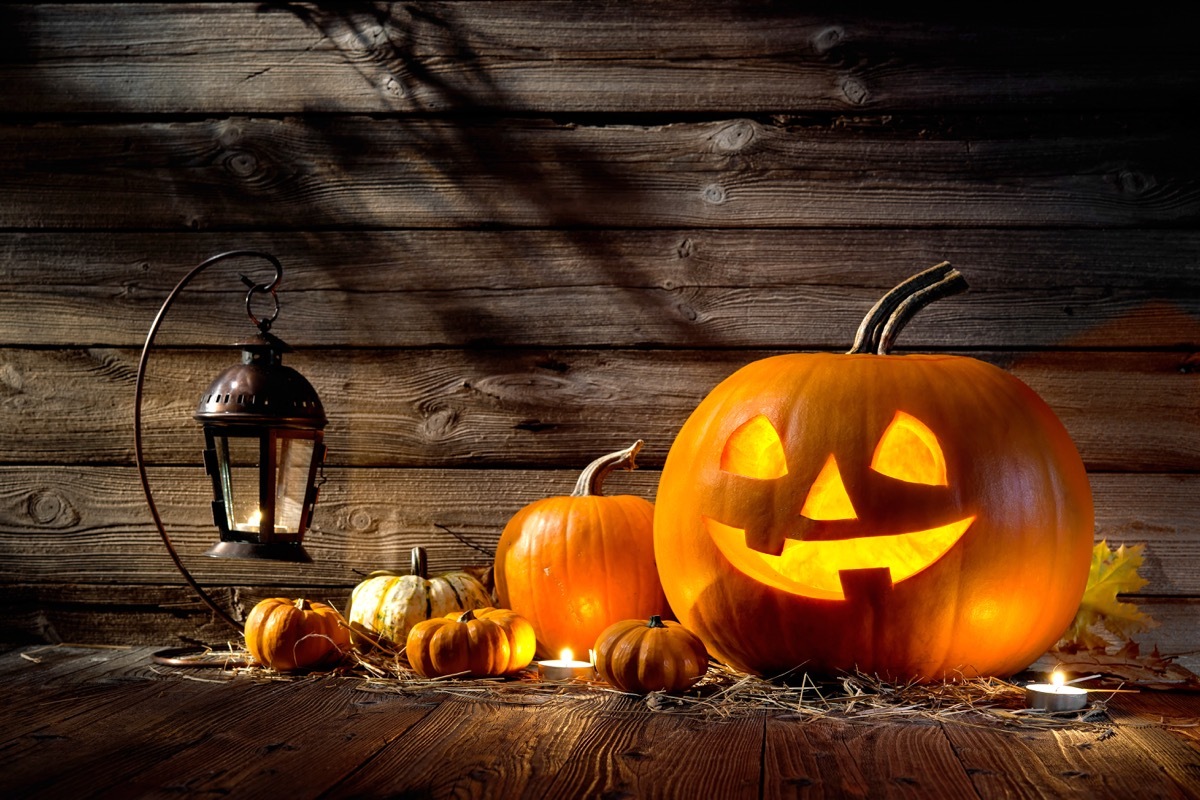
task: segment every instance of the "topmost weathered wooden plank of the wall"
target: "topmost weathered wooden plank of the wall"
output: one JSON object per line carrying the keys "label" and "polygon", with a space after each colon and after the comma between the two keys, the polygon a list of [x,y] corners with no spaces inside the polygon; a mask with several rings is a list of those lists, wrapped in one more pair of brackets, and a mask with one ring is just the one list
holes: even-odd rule
{"label": "topmost weathered wooden plank of the wall", "polygon": [[25,113],[1163,108],[1200,83],[1186,26],[1150,19],[241,2],[13,5],[0,20],[14,46],[0,106]]}

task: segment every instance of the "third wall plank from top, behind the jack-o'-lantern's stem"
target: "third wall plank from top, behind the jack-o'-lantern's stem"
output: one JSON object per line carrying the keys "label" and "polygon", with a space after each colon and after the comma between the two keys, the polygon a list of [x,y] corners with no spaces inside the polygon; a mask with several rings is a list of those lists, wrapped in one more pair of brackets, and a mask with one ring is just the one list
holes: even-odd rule
{"label": "third wall plank from top, behind the jack-o'-lantern's stem", "polygon": [[[235,248],[280,257],[280,330],[304,347],[844,349],[875,300],[943,259],[971,290],[902,345],[1200,343],[1200,234],[972,229],[0,234],[0,343],[139,347],[175,282]],[[161,342],[236,338],[236,276],[264,266],[212,267]]]}

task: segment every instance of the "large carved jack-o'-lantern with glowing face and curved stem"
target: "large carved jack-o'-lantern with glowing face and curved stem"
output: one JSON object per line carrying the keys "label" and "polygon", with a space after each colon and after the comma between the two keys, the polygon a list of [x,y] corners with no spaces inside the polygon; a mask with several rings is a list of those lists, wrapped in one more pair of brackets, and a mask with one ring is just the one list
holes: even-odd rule
{"label": "large carved jack-o'-lantern with glowing face and curved stem", "polygon": [[1070,622],[1091,491],[1025,384],[949,355],[888,355],[938,265],[864,320],[846,355],[754,362],[684,425],[655,504],[679,621],[733,667],[898,679],[1008,674]]}

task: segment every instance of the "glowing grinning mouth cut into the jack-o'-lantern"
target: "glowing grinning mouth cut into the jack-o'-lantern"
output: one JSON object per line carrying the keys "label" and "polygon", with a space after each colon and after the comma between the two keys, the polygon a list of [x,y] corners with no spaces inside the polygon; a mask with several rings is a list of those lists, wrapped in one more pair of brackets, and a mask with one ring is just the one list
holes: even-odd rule
{"label": "glowing grinning mouth cut into the jack-o'-lantern", "polygon": [[845,600],[842,570],[887,567],[892,583],[899,583],[942,558],[967,533],[974,519],[971,516],[948,525],[892,536],[828,542],[788,539],[780,555],[746,547],[746,535],[740,528],[707,517],[704,523],[730,564],[760,583],[805,597]]}

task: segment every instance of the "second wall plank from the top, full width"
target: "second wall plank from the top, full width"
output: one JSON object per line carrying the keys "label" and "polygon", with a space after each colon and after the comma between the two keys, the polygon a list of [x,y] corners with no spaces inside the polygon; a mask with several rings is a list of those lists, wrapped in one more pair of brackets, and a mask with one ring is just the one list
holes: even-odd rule
{"label": "second wall plank from the top, full width", "polygon": [[[1170,119],[230,118],[0,126],[0,228],[1146,227],[1194,223]],[[95,198],[104,198],[97,203]]]}

